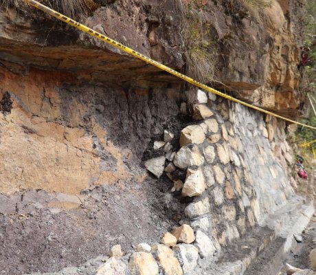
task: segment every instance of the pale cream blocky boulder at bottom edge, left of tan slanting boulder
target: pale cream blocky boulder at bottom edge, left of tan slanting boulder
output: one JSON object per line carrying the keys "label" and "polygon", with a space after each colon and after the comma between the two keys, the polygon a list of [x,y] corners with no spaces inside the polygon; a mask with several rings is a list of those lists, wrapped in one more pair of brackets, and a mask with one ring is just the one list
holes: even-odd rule
{"label": "pale cream blocky boulder at bottom edge, left of tan slanting boulder", "polygon": [[131,275],[158,275],[159,267],[152,254],[136,252],[129,259]]}

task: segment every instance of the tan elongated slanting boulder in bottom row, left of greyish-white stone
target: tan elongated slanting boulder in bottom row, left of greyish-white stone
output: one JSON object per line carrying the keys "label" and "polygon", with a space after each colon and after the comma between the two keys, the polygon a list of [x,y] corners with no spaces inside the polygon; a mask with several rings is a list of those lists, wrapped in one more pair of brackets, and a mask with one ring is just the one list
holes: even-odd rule
{"label": "tan elongated slanting boulder in bottom row, left of greyish-white stone", "polygon": [[166,245],[155,244],[152,247],[152,253],[155,259],[161,265],[164,275],[182,275],[183,271],[174,252]]}

